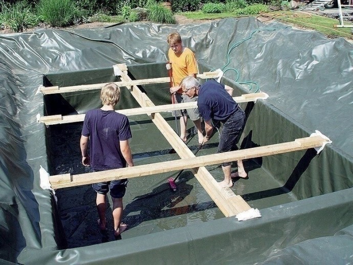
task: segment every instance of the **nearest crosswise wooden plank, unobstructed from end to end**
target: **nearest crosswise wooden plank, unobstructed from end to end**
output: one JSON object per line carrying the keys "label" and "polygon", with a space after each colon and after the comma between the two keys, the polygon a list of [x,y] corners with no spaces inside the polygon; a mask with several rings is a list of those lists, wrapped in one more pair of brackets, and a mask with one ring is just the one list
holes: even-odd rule
{"label": "nearest crosswise wooden plank, unobstructed from end to end", "polygon": [[[125,178],[137,178],[139,176],[147,176],[188,168],[198,168],[237,160],[273,156],[274,154],[279,153],[293,152],[313,147],[320,147],[326,142],[328,142],[328,140],[326,140],[322,136],[306,137],[296,139],[293,142],[259,146],[224,153],[208,154],[206,156],[194,157],[192,159],[184,158],[179,160],[152,163],[147,165],[139,165],[129,168],[119,168],[76,175],[53,175],[50,176],[49,181],[53,189],[67,188],[104,181],[112,181]],[[197,169],[195,169],[195,172],[197,172]]]}

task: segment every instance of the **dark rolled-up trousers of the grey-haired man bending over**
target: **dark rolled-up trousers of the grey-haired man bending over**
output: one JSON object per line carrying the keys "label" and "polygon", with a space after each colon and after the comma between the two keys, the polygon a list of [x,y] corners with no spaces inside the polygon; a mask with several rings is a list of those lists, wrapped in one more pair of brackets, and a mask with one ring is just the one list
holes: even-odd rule
{"label": "dark rolled-up trousers of the grey-haired man bending over", "polygon": [[[232,114],[223,124],[222,133],[218,144],[217,153],[237,150],[239,135],[245,125],[245,113],[240,108]],[[223,163],[222,166],[229,166],[231,162]]]}

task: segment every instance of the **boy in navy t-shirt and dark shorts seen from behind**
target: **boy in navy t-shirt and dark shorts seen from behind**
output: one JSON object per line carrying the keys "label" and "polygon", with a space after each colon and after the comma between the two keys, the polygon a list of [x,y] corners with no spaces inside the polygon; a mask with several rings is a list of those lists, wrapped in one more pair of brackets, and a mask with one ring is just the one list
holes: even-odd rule
{"label": "boy in navy t-shirt and dark shorts seen from behind", "polygon": [[[80,147],[82,164],[91,166],[92,171],[134,166],[128,140],[132,137],[129,121],[125,115],[115,112],[120,99],[120,89],[114,83],[106,84],[100,96],[103,106],[88,111],[84,117]],[[90,143],[90,156],[87,149]],[[127,179],[94,183],[97,192],[98,225],[101,231],[106,229],[106,194],[110,190],[113,201],[114,236],[118,237],[126,225],[121,223],[123,214],[123,196]]]}

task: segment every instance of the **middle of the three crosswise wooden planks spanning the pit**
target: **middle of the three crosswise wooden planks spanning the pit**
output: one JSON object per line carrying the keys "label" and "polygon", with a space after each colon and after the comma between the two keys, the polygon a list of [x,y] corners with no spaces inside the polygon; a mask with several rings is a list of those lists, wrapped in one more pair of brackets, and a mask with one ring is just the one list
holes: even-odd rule
{"label": "middle of the three crosswise wooden planks spanning the pit", "polygon": [[[251,95],[251,96],[248,96],[248,95]],[[266,97],[267,97],[266,93],[260,92],[260,93],[244,94],[239,97],[233,97],[233,99],[237,103],[243,103],[243,102],[256,101],[257,99],[262,99]],[[121,109],[116,112],[119,112],[126,116],[143,115],[143,114],[150,115],[151,113],[171,112],[171,111],[177,111],[178,109],[189,109],[194,107],[197,107],[197,102],[166,104],[166,105],[159,105],[159,106],[153,105],[153,106],[147,106],[147,107]],[[84,114],[68,115],[68,116],[50,115],[50,116],[40,117],[38,122],[45,123],[46,125],[65,124],[65,123],[83,121],[84,116],[85,116]]]}

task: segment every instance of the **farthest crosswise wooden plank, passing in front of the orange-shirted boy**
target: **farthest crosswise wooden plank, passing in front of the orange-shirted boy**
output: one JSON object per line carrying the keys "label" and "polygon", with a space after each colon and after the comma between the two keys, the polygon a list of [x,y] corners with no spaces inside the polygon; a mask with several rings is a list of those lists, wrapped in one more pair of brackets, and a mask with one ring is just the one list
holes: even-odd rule
{"label": "farthest crosswise wooden plank, passing in front of the orange-shirted boy", "polygon": [[[206,79],[206,78],[216,78],[218,76],[218,72],[205,72],[203,74],[198,74],[197,77]],[[146,85],[146,84],[160,84],[160,83],[169,83],[169,77],[159,77],[159,78],[149,78],[149,79],[139,79],[139,80],[126,80],[126,81],[118,81],[114,82],[118,86],[126,86],[130,87],[133,85]],[[71,92],[80,92],[80,91],[90,91],[90,90],[100,90],[107,83],[99,83],[99,84],[86,84],[86,85],[73,85],[73,86],[42,86],[40,88],[40,92],[44,95],[49,94],[58,94],[58,93],[71,93]]]}

